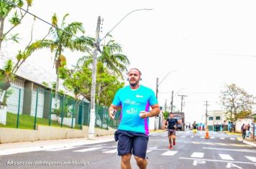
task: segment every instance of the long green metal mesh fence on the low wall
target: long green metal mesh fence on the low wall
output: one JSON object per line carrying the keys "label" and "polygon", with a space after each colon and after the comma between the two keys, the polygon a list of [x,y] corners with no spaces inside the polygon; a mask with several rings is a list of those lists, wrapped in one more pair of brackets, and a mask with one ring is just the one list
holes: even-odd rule
{"label": "long green metal mesh fence on the low wall", "polygon": [[[7,98],[6,125],[0,127],[16,127],[36,129],[37,125],[70,127],[82,129],[90,123],[90,103],[75,100],[68,95],[58,95],[42,87],[10,87],[11,95]],[[96,105],[95,126],[102,129],[116,128],[116,120],[109,118],[108,107]]]}

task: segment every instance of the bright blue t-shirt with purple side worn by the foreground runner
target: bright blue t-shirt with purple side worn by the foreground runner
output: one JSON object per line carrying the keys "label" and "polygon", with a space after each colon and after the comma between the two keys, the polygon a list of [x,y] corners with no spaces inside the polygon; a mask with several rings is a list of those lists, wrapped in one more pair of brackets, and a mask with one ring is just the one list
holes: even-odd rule
{"label": "bright blue t-shirt with purple side worn by the foreground runner", "polygon": [[140,85],[136,90],[130,86],[116,92],[112,102],[115,106],[121,106],[119,130],[143,132],[149,134],[149,119],[140,118],[140,111],[149,111],[150,105],[156,105],[155,93],[145,86]]}

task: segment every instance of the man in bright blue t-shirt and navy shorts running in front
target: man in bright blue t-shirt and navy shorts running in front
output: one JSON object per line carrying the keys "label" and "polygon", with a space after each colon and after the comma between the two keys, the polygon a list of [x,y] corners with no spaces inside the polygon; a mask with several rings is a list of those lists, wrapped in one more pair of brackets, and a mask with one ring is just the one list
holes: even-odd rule
{"label": "man in bright blue t-shirt and navy shorts running in front", "polygon": [[114,134],[118,155],[122,156],[121,168],[131,168],[132,154],[139,168],[147,168],[148,117],[159,115],[160,106],[155,93],[140,84],[139,69],[130,69],[127,75],[129,85],[116,92],[109,107],[109,117],[114,120],[116,110],[121,108],[119,127]]}

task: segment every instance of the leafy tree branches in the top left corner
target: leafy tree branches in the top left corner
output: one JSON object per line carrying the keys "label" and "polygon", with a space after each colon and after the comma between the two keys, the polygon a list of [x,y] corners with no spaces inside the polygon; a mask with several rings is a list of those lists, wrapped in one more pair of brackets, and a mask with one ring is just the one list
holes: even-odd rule
{"label": "leafy tree branches in the top left corner", "polygon": [[16,8],[14,4],[16,4],[19,7],[24,6],[24,1],[22,0],[12,0],[11,2],[13,4],[6,0],[0,1],[0,50],[1,44],[4,40],[12,39],[14,40],[14,42],[18,42],[18,34],[11,35],[11,37],[9,38],[7,37],[7,35],[12,31],[12,29],[14,29],[14,27],[21,24],[22,19],[29,10],[29,7],[32,6],[32,0],[26,0],[27,11],[22,11],[21,9],[19,9],[19,12],[17,10],[14,11],[14,14],[12,15],[11,19],[9,19],[9,22],[12,24],[12,26],[4,32],[4,21],[10,14],[12,14],[12,10]]}

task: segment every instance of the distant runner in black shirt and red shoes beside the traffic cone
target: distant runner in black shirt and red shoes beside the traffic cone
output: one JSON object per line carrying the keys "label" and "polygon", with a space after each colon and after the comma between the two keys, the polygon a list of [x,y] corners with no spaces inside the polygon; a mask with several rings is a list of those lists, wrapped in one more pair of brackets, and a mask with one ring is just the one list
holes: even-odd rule
{"label": "distant runner in black shirt and red shoes beside the traffic cone", "polygon": [[[178,125],[178,120],[173,118],[173,112],[170,112],[168,119],[163,124],[165,124],[164,127],[166,127],[166,125],[167,125],[168,138],[169,138],[169,144],[170,144],[169,149],[172,149],[173,146],[176,145],[176,143],[175,143],[175,140],[176,140],[175,128]],[[173,144],[172,144],[172,140],[173,140]]]}

